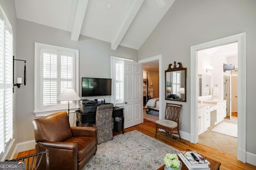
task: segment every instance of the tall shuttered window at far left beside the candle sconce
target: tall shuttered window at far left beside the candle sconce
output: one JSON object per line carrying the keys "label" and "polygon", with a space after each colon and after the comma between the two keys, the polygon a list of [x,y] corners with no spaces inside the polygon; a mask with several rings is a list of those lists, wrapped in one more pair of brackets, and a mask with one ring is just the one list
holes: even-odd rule
{"label": "tall shuttered window at far left beside the candle sconce", "polygon": [[0,160],[12,144],[13,134],[13,56],[12,26],[0,6]]}

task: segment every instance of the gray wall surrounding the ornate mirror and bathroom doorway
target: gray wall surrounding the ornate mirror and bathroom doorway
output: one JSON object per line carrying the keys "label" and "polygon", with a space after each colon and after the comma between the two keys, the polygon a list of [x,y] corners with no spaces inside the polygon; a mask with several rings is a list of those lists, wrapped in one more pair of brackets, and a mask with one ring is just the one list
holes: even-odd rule
{"label": "gray wall surrounding the ornate mirror and bathroom doorway", "polygon": [[[252,75],[256,63],[255,9],[256,0],[176,0],[138,51],[139,60],[162,54],[163,77],[169,63],[181,62],[187,67],[187,102],[182,102],[180,130],[190,133],[190,47],[246,32],[246,151],[253,154],[256,154],[253,102],[256,81]],[[162,84],[164,89],[164,80]]]}

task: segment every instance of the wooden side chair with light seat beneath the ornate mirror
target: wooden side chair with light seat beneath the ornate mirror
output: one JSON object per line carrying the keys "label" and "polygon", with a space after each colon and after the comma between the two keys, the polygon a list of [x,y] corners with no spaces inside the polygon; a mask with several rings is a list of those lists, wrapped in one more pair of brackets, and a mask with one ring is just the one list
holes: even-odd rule
{"label": "wooden side chair with light seat beneath the ornate mirror", "polygon": [[[166,103],[165,118],[162,120],[156,121],[156,133],[157,132],[168,133],[170,135],[170,145],[172,145],[172,134],[177,134],[180,137],[179,119],[180,119],[181,108],[182,108],[182,104]],[[163,129],[165,132],[158,131],[158,129]],[[175,131],[177,131],[177,133],[174,133]],[[180,137],[180,140],[181,140],[181,137]]]}

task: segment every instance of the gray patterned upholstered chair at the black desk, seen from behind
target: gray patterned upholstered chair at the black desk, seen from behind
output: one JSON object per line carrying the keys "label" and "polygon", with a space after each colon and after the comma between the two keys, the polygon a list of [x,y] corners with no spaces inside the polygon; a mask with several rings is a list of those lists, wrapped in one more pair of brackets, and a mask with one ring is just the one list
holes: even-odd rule
{"label": "gray patterned upholstered chair at the black desk, seen from behind", "polygon": [[112,132],[113,104],[100,105],[96,111],[96,127],[98,128],[98,144],[113,139]]}

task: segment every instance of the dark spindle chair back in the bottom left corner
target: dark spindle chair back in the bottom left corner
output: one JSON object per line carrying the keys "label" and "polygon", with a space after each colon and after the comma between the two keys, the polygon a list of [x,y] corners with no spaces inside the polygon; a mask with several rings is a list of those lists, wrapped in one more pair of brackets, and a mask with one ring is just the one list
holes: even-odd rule
{"label": "dark spindle chair back in the bottom left corner", "polygon": [[27,156],[23,156],[20,158],[12,159],[12,160],[5,160],[5,161],[17,161],[17,162],[25,162],[26,170],[37,170],[38,167],[41,164],[43,156],[46,156],[46,166],[42,165],[43,167],[46,167],[44,169],[49,170],[49,150],[46,149],[44,152],[39,152],[36,154],[30,154]]}

